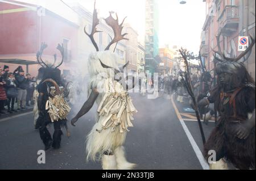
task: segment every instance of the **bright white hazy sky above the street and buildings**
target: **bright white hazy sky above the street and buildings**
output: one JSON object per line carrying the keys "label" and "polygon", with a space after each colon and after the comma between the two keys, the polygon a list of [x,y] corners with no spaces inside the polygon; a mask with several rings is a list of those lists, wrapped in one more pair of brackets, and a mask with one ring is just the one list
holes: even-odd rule
{"label": "bright white hazy sky above the street and buildings", "polygon": [[[63,14],[65,18],[75,19],[72,11],[68,11],[64,3],[79,2],[85,9],[93,11],[94,0],[20,0],[34,2],[50,10]],[[186,0],[181,5],[180,0],[156,0],[159,5],[159,48],[166,44],[169,47],[177,45],[191,52],[199,52],[200,36],[205,21],[205,2],[203,0]],[[108,17],[109,11],[117,12],[121,21],[129,23],[139,34],[138,40],[143,43],[145,32],[145,2],[146,0],[97,0],[98,16]],[[59,6],[61,4],[61,6]],[[70,13],[69,13],[70,12]]]}

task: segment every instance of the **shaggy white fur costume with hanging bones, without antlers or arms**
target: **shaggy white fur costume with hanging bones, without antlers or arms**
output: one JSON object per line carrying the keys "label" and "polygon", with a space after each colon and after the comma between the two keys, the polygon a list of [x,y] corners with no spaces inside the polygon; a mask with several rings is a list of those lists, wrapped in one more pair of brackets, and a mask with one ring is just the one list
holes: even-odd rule
{"label": "shaggy white fur costume with hanging bones, without antlers or arms", "polygon": [[[132,169],[135,165],[126,161],[122,147],[126,139],[128,127],[133,127],[133,113],[137,112],[131,98],[122,85],[114,81],[114,71],[103,68],[100,64],[118,69],[118,57],[110,52],[97,52],[89,57],[90,83],[88,95],[97,88],[99,95],[97,123],[86,140],[87,159],[102,159],[103,169]],[[114,155],[104,155],[112,152]]]}

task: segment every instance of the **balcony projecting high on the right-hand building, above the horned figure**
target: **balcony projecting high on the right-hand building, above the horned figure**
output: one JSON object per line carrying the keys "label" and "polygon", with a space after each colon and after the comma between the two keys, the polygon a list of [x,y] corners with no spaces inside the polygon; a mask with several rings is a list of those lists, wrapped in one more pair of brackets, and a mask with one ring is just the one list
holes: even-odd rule
{"label": "balcony projecting high on the right-hand building, above the horned figure", "polygon": [[237,6],[225,6],[225,9],[218,17],[218,22],[222,27],[222,35],[231,36],[237,31],[239,25],[239,9]]}

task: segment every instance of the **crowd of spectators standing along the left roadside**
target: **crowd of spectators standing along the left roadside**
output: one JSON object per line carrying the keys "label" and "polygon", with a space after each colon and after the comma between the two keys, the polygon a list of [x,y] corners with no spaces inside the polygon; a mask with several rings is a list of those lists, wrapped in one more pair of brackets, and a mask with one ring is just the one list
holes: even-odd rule
{"label": "crowd of spectators standing along the left roadside", "polygon": [[9,66],[0,66],[0,116],[9,112],[23,111],[33,104],[36,78],[25,75],[22,66],[10,71]]}

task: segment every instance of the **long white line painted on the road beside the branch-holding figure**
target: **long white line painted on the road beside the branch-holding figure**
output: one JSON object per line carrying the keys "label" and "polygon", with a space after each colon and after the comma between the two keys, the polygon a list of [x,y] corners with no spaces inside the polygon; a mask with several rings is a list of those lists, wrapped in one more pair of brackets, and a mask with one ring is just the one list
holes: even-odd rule
{"label": "long white line painted on the road beside the branch-holding figure", "polygon": [[196,157],[199,159],[199,162],[200,162],[201,166],[203,167],[203,169],[204,170],[209,170],[209,165],[205,161],[204,156],[203,156],[201,150],[199,149],[199,146],[196,144],[196,141],[194,140],[191,132],[189,132],[187,125],[185,124],[184,120],[182,119],[182,117],[181,117],[181,115],[180,115],[180,113],[179,113],[179,111],[176,107],[176,104],[174,103],[174,98],[173,97],[174,97],[174,94],[172,94],[172,96],[171,96],[172,105],[174,106],[174,110],[176,112],[176,115],[177,115],[178,119],[180,120],[180,123],[181,123],[181,125],[184,129],[184,132],[186,133],[186,135],[188,137],[188,140],[189,140],[190,144],[192,145],[193,150],[196,153]]}

